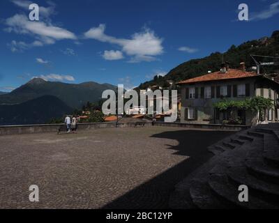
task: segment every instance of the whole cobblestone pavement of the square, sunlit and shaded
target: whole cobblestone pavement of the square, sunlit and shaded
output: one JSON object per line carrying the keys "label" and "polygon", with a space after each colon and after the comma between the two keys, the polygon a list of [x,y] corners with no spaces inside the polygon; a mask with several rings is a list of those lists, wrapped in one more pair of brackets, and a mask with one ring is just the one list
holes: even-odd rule
{"label": "whole cobblestone pavement of the square, sunlit and shaded", "polygon": [[[146,127],[0,137],[0,208],[167,208],[233,132]],[[39,202],[29,201],[38,185]]]}

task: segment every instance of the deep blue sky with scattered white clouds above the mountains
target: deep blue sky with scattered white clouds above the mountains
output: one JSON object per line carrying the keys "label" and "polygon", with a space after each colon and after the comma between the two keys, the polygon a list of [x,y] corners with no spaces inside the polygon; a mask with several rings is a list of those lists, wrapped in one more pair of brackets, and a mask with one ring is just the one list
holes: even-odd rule
{"label": "deep blue sky with scattered white clouds above the mountains", "polygon": [[[0,91],[32,77],[137,86],[279,29],[279,1],[0,1]],[[249,7],[249,22],[238,7]]]}

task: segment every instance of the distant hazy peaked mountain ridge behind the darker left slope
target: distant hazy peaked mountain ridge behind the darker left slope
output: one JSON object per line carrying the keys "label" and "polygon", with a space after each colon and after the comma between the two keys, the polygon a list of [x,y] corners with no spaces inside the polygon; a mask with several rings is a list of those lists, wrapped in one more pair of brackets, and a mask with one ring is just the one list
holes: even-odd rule
{"label": "distant hazy peaked mountain ridge behind the darker left slope", "polygon": [[98,84],[85,82],[82,84],[66,84],[62,82],[47,82],[41,78],[33,78],[18,89],[0,95],[0,105],[15,105],[27,102],[43,95],[53,95],[73,108],[81,108],[86,102],[97,102],[102,97],[103,91],[116,86],[111,84]]}

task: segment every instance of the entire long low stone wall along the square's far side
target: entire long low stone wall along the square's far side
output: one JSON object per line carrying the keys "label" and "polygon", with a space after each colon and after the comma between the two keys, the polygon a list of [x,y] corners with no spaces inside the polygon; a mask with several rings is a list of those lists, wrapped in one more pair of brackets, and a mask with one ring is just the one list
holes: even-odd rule
{"label": "entire long low stone wall along the square's far side", "polygon": [[[45,125],[3,125],[0,126],[0,136],[10,134],[31,134],[42,132],[57,132],[63,124],[45,124]],[[151,125],[146,122],[145,125]],[[194,124],[194,123],[164,123],[156,122],[156,126],[179,127],[179,128],[204,128],[213,130],[234,130],[240,131],[250,128],[247,125],[215,125],[215,124]],[[78,130],[94,130],[98,128],[115,128],[116,122],[112,123],[79,123]],[[119,128],[135,127],[135,123],[118,123]]]}

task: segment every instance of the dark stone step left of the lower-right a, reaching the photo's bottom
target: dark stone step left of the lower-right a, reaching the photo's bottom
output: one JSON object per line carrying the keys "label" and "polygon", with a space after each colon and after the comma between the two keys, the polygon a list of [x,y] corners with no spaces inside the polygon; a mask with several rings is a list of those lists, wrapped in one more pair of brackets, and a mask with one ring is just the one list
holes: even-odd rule
{"label": "dark stone step left of the lower-right a, reaching the photo's bottom", "polygon": [[193,180],[190,187],[190,197],[197,208],[200,209],[223,209],[233,208],[229,203],[221,202],[213,195],[209,185],[200,180]]}

